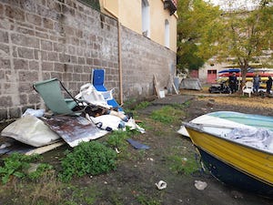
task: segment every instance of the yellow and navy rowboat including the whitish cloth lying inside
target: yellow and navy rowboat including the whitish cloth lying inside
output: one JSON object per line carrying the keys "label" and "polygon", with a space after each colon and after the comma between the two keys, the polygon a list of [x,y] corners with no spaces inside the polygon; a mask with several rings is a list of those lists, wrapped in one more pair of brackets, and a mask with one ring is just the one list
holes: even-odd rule
{"label": "yellow and navy rowboat including the whitish cloth lying inside", "polygon": [[227,185],[273,197],[272,131],[248,125],[183,125],[214,177]]}

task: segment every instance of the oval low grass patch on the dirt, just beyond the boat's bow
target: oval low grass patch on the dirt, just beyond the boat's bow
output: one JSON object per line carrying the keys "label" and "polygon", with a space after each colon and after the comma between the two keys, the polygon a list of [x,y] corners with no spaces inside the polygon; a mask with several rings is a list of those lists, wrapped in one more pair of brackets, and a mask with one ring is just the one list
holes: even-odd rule
{"label": "oval low grass patch on the dirt, just beyond the boat's bow", "polygon": [[164,124],[171,124],[175,121],[178,121],[182,115],[184,115],[182,110],[173,108],[171,106],[165,106],[156,111],[153,111],[151,118]]}

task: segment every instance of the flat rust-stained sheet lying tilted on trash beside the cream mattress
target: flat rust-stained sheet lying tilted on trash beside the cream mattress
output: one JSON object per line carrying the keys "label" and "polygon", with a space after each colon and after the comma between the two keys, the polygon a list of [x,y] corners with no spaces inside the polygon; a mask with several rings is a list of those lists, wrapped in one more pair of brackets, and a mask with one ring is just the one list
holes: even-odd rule
{"label": "flat rust-stained sheet lying tilted on trash beside the cream mattress", "polygon": [[76,147],[82,141],[100,138],[107,134],[105,130],[83,117],[56,116],[44,118],[48,128],[55,131],[70,147]]}

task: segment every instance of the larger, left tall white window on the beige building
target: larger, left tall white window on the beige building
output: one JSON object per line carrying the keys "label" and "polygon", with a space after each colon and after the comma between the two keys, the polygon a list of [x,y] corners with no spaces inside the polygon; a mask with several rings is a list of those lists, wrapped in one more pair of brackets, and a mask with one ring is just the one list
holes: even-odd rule
{"label": "larger, left tall white window on the beige building", "polygon": [[147,0],[142,0],[142,34],[143,36],[150,37],[150,15],[149,4]]}

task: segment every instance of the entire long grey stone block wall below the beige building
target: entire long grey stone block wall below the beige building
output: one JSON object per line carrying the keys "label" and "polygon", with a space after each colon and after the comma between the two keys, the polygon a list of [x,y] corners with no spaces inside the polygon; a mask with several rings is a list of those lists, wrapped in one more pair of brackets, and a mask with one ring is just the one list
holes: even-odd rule
{"label": "entire long grey stone block wall below the beige building", "polygon": [[[153,74],[167,84],[176,54],[123,26],[120,33],[124,98],[153,95]],[[0,0],[0,121],[44,108],[35,81],[56,77],[76,95],[94,67],[106,69],[118,100],[116,19],[76,0]]]}

